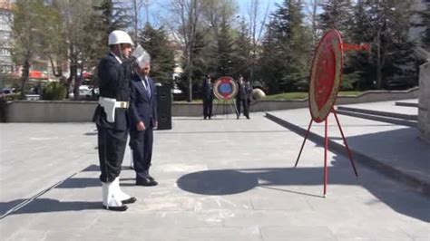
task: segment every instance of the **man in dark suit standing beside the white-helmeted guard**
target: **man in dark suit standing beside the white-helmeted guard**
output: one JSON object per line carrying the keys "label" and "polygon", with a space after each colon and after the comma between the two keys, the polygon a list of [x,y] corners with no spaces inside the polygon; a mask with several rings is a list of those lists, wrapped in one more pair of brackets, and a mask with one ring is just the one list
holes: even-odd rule
{"label": "man in dark suit standing beside the white-helmeted guard", "polygon": [[149,77],[150,65],[135,66],[131,82],[130,147],[132,148],[133,167],[136,171],[136,185],[155,186],[149,169],[152,158],[153,129],[158,127],[155,84]]}

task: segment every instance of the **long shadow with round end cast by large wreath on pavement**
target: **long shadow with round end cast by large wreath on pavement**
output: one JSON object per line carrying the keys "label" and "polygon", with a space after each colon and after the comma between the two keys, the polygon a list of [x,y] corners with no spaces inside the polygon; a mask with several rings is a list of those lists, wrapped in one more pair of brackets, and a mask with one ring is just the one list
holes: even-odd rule
{"label": "long shadow with round end cast by large wreath on pavement", "polygon": [[[393,189],[393,182],[384,181],[386,178],[382,178],[381,181],[376,172],[369,172],[366,169],[363,169],[362,176],[357,179],[349,161],[343,157],[335,156],[332,164],[334,166],[328,168],[328,190],[330,185],[362,186],[377,198],[376,202],[385,203],[396,212],[408,217],[430,222],[430,199],[425,196],[409,189]],[[177,184],[183,190],[201,195],[231,195],[260,187],[322,198],[315,194],[277,187],[318,185],[322,192],[323,169],[299,168],[299,166],[300,163],[298,163],[298,168],[205,170],[184,175],[177,180]],[[360,175],[359,167],[358,175]]]}

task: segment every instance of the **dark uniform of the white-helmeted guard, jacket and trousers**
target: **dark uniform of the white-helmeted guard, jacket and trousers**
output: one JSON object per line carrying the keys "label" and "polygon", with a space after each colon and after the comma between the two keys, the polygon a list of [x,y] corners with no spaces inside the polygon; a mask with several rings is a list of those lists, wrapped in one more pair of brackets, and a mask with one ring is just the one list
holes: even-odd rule
{"label": "dark uniform of the white-helmeted guard, jacket and trousers", "polygon": [[[132,62],[120,63],[114,54],[104,57],[98,66],[101,98],[116,99],[128,104]],[[128,106],[115,107],[114,121],[109,122],[104,108],[99,104],[93,121],[98,130],[99,161],[102,182],[112,182],[119,177],[129,129]]]}

